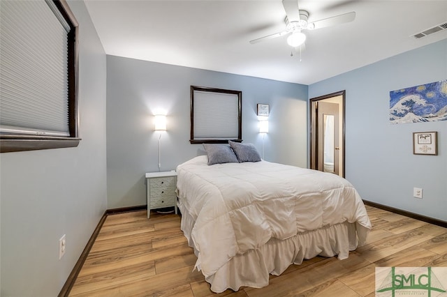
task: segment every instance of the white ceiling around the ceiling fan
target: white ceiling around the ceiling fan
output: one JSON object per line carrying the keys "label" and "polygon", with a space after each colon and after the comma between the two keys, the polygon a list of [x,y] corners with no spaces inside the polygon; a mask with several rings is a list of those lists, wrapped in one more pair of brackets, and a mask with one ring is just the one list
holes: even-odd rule
{"label": "white ceiling around the ceiling fan", "polygon": [[291,56],[281,0],[85,0],[106,54],[312,84],[447,38],[411,35],[447,21],[447,0],[300,0],[309,22],[356,12],[356,20],[307,35]]}

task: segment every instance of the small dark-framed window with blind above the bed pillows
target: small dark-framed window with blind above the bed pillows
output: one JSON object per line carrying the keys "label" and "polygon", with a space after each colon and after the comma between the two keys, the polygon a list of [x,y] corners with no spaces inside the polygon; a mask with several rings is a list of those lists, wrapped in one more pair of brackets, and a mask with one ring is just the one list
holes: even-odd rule
{"label": "small dark-framed window with blind above the bed pillows", "polygon": [[191,86],[191,144],[242,142],[242,91]]}

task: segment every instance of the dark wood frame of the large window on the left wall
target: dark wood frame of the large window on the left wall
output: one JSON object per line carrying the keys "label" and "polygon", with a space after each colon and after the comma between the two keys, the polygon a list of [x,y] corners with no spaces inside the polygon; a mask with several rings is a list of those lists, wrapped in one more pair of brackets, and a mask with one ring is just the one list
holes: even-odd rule
{"label": "dark wood frame of the large window on the left wall", "polygon": [[[78,111],[78,22],[65,0],[53,0],[70,31],[68,37],[68,130],[67,137],[0,134],[0,153],[67,148],[79,145]],[[49,8],[50,9],[50,8]]]}

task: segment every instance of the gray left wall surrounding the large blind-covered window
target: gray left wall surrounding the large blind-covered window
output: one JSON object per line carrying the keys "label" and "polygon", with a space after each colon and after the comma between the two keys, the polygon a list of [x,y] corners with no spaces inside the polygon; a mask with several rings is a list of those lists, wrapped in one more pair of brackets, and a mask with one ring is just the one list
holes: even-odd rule
{"label": "gray left wall surrounding the large blind-covered window", "polygon": [[105,53],[84,2],[68,4],[80,24],[82,141],[0,154],[1,296],[57,296],[107,208]]}

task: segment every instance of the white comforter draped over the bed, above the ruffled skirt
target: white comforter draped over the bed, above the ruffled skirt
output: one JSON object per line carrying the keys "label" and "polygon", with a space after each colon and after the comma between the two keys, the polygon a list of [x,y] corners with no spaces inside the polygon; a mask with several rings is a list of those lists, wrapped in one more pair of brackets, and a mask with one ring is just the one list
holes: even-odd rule
{"label": "white comforter draped over the bed, above the ruffled skirt", "polygon": [[362,245],[371,229],[358,192],[335,174],[266,161],[208,166],[206,155],[179,165],[177,174],[179,204],[195,221],[185,235],[205,277],[270,238],[347,221],[357,223]]}

